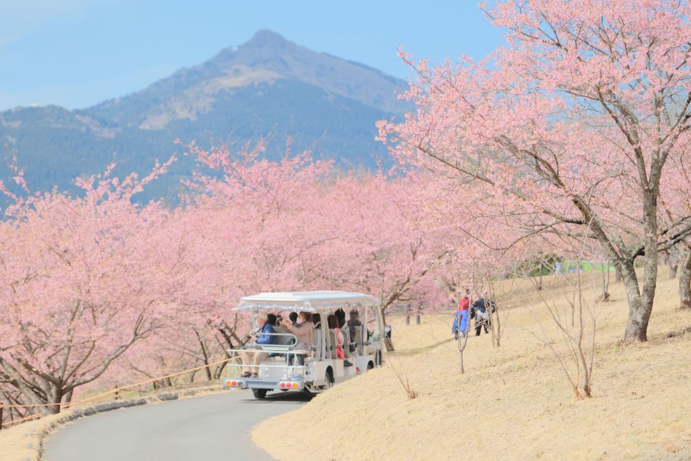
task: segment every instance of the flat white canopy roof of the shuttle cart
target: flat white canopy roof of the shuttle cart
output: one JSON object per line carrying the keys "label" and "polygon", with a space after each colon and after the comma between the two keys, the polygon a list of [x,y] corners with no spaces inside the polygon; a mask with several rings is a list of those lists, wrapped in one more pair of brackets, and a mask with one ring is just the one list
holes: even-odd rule
{"label": "flat white canopy roof of the shuttle cart", "polygon": [[379,299],[371,294],[319,290],[311,292],[259,293],[240,298],[234,310],[271,309],[317,312],[347,305],[376,305]]}

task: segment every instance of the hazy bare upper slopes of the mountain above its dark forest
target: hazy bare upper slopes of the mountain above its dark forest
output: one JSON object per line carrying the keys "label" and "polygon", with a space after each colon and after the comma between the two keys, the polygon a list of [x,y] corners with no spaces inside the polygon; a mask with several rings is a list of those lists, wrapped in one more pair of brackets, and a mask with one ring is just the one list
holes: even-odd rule
{"label": "hazy bare upper slopes of the mountain above its dark forest", "polygon": [[[302,85],[310,87],[309,91],[363,104],[368,110],[395,114],[408,109],[406,102],[394,95],[404,89],[405,82],[368,66],[318,53],[263,29],[238,48],[225,48],[207,62],[177,70],[143,91],[97,104],[84,113],[113,124],[163,129],[175,121],[196,122],[240,93],[278,91],[285,82],[290,82],[287,85],[292,91]],[[257,89],[274,84],[279,86]],[[252,104],[261,100],[252,100]],[[286,106],[278,112],[290,110]]]}

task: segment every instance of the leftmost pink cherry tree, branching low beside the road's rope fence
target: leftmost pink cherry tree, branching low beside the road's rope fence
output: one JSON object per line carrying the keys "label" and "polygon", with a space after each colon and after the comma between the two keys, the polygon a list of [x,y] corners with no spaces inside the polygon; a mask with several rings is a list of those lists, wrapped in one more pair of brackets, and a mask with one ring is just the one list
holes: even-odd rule
{"label": "leftmost pink cherry tree, branching low beside the road's rope fence", "polygon": [[[173,161],[173,159],[171,159]],[[57,413],[62,399],[102,376],[133,345],[163,326],[171,271],[147,236],[166,211],[131,196],[170,162],[139,179],[80,180],[82,198],[26,194],[0,222],[0,387]]]}

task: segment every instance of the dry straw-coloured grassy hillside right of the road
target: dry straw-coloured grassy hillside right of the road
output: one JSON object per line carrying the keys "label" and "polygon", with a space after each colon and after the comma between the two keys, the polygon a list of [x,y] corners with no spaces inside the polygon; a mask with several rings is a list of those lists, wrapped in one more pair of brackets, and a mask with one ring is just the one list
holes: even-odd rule
{"label": "dry straw-coloured grassy hillside right of the road", "polygon": [[[560,285],[545,282],[542,296],[565,308]],[[421,326],[393,319],[397,352],[386,366],[267,420],[253,440],[281,460],[691,459],[691,312],[675,310],[676,282],[660,280],[645,344],[620,343],[621,284],[611,285],[611,301],[596,305],[591,399],[574,398],[551,351],[533,336],[541,321],[560,347],[538,294],[513,285],[502,346],[473,332],[464,375],[449,340],[451,314],[424,316]],[[500,294],[508,293],[504,283]],[[408,376],[417,398],[407,397],[392,367]],[[285,428],[290,437],[277,437]]]}

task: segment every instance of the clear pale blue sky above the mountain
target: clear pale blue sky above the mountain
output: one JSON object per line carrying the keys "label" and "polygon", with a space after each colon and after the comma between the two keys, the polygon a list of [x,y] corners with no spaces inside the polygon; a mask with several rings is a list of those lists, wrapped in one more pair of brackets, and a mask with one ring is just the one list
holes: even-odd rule
{"label": "clear pale blue sky above the mountain", "polygon": [[399,44],[439,62],[483,57],[503,40],[473,0],[5,0],[0,111],[75,109],[138,91],[259,29],[404,79]]}

